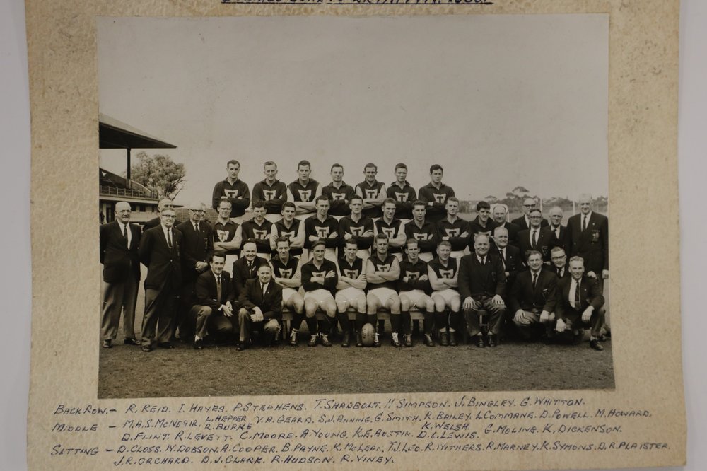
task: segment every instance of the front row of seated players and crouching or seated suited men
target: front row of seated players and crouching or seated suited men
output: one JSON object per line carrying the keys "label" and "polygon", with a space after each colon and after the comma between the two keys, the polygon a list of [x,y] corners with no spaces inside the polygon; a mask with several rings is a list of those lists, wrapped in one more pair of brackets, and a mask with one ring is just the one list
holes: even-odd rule
{"label": "front row of seated players and crouching or seated suited men", "polygon": [[[430,347],[435,345],[433,330],[442,345],[456,345],[457,332],[462,332],[478,347],[495,347],[506,320],[504,313],[510,310],[513,324],[527,339],[538,329],[546,335],[567,330],[579,337],[581,329],[590,325],[590,346],[602,349],[598,339],[604,298],[597,280],[584,274],[580,257],[570,261],[571,277],[558,279],[554,270],[542,269],[541,254],[531,251],[529,269],[520,273],[507,294],[506,274],[500,258],[489,254],[489,238],[479,235],[475,239],[474,254],[459,262],[450,257],[450,243],[440,242],[439,255],[430,263],[419,259],[419,244],[414,239],[407,240],[405,256],[399,261],[388,251],[383,234],[375,237],[375,254],[367,260],[356,256],[356,239],[347,240],[338,263],[325,258],[322,242],[314,244],[312,259],[306,263],[291,256],[287,238],[277,240],[278,255],[269,262],[255,255],[255,243],[246,243],[243,258],[233,267],[233,289],[218,293],[214,287],[227,283],[228,274],[223,271],[225,256],[216,252],[211,256],[210,272],[197,280],[192,308],[197,325],[194,347],[201,349],[209,328],[220,335],[237,334],[238,350],[247,347],[254,329],[265,332],[269,343],[279,335],[281,308],[286,307],[293,315],[293,346],[298,344],[303,321],[310,332],[310,347],[317,343],[331,346],[329,332],[338,321],[344,331],[341,346],[349,347],[355,338],[356,346],[361,347],[363,325],[377,325],[378,311],[385,308],[390,312],[391,344],[395,347],[412,346],[410,310],[416,309],[423,313],[424,342]],[[239,288],[247,274],[250,279]],[[214,281],[221,277],[225,279],[222,284]],[[349,321],[349,309],[356,311],[354,322]],[[325,315],[317,318],[317,310]],[[480,311],[489,318],[486,336],[481,330]],[[378,332],[373,346],[380,346]]]}

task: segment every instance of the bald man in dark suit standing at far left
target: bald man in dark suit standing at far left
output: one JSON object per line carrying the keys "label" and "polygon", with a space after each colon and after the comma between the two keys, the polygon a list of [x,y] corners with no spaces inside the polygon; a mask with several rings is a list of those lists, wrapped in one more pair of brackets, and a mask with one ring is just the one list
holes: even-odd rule
{"label": "bald man in dark suit standing at far left", "polygon": [[139,345],[135,338],[135,303],[140,281],[140,226],[130,223],[130,204],[115,204],[115,221],[100,226],[100,262],[103,264],[103,308],[100,335],[103,348],[110,349],[123,314],[126,345]]}

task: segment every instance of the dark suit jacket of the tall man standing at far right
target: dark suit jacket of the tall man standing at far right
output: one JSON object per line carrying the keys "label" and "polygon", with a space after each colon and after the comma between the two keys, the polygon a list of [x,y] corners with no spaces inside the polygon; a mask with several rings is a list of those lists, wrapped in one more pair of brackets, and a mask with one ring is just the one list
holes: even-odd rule
{"label": "dark suit jacket of the tall man standing at far right", "polygon": [[609,219],[592,211],[587,228],[582,231],[582,214],[575,214],[567,221],[568,254],[584,259],[584,271],[601,276],[602,269],[609,269]]}

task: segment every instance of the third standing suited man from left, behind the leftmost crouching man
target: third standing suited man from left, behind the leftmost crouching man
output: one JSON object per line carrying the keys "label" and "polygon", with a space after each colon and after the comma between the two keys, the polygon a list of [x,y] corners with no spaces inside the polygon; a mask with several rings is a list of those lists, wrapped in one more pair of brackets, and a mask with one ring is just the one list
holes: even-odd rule
{"label": "third standing suited man from left, behind the leftmost crouching man", "polygon": [[[189,310],[194,304],[194,284],[197,277],[209,269],[209,259],[214,253],[214,236],[211,226],[206,224],[204,215],[206,210],[201,203],[189,205],[189,221],[177,226],[182,233],[182,293],[179,309],[179,334],[182,342],[189,342],[194,335],[194,325],[189,319]],[[173,325],[172,335],[177,330],[177,323]]]}

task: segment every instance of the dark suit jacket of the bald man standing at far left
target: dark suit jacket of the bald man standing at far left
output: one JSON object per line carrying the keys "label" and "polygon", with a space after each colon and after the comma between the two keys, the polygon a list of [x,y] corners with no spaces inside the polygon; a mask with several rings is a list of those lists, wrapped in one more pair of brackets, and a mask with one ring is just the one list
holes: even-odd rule
{"label": "dark suit jacket of the bald man standing at far left", "polygon": [[140,279],[138,247],[142,232],[137,224],[128,224],[131,234],[130,247],[123,237],[117,221],[100,226],[100,262],[103,264],[103,281],[119,283],[133,277]]}

